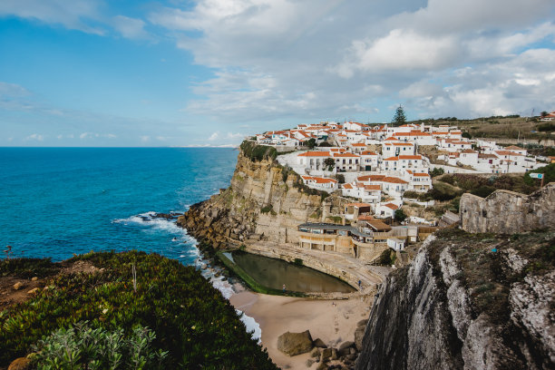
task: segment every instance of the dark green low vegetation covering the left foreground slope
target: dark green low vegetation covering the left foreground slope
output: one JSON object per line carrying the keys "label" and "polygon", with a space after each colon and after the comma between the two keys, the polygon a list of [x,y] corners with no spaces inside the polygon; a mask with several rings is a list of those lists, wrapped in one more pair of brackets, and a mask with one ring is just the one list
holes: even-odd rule
{"label": "dark green low vegetation covering the left foreground slope", "polygon": [[[229,301],[195,268],[137,251],[92,252],[63,266],[75,263],[91,265],[93,272],[62,269],[44,279],[34,297],[0,312],[0,366],[33,348],[59,346],[60,337],[81,340],[76,335],[84,327],[117,339],[122,354],[129,354],[140,336],[149,342],[142,360],[166,368],[277,368]],[[0,262],[0,271],[3,276],[48,276],[51,266],[48,260],[10,259]],[[75,358],[89,358],[83,349],[74,350]],[[121,367],[114,368],[146,368],[125,367],[132,361],[132,355],[122,355]]]}

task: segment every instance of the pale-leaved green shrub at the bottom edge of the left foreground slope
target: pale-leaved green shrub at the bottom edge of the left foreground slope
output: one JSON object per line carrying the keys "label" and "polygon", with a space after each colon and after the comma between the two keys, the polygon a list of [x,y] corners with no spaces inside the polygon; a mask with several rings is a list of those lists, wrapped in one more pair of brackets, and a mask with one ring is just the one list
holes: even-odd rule
{"label": "pale-leaved green shrub at the bottom edge of the left foreground slope", "polygon": [[50,369],[163,369],[168,352],[152,348],[156,338],[148,327],[136,326],[131,335],[123,329],[93,329],[87,321],[56,330],[34,346],[37,370]]}

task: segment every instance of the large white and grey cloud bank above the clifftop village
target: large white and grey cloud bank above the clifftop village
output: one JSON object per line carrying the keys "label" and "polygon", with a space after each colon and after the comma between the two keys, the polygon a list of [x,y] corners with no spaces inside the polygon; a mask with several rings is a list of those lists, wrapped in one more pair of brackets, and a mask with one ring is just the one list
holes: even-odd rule
{"label": "large white and grey cloud bank above the clifftop village", "polygon": [[160,8],[149,21],[215,71],[184,111],[239,125],[350,114],[372,121],[377,105],[399,96],[418,110],[443,101],[463,111],[468,99],[443,90],[457,83],[454,71],[480,73],[552,39],[554,10],[551,0],[199,0]]}

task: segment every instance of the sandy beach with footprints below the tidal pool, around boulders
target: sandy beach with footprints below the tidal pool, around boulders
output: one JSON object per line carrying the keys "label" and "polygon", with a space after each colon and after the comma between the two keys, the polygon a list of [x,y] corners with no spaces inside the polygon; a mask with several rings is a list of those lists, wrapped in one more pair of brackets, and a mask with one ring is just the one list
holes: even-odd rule
{"label": "sandy beach with footprints below the tidal pool, around boulders", "polygon": [[277,350],[277,337],[287,331],[310,330],[313,339],[320,338],[327,346],[353,341],[356,323],[368,318],[372,299],[353,297],[332,301],[242,291],[229,301],[258,322],[262,329],[262,346],[268,349],[274,363],[283,369],[307,369],[309,354],[289,357],[281,353]]}

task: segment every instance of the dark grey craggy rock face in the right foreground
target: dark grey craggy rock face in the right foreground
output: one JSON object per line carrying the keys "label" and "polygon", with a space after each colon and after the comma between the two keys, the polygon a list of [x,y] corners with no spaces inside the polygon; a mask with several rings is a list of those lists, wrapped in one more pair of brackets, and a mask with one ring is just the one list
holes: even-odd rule
{"label": "dark grey craggy rock face in the right foreground", "polygon": [[554,368],[554,244],[439,232],[385,280],[356,369]]}

